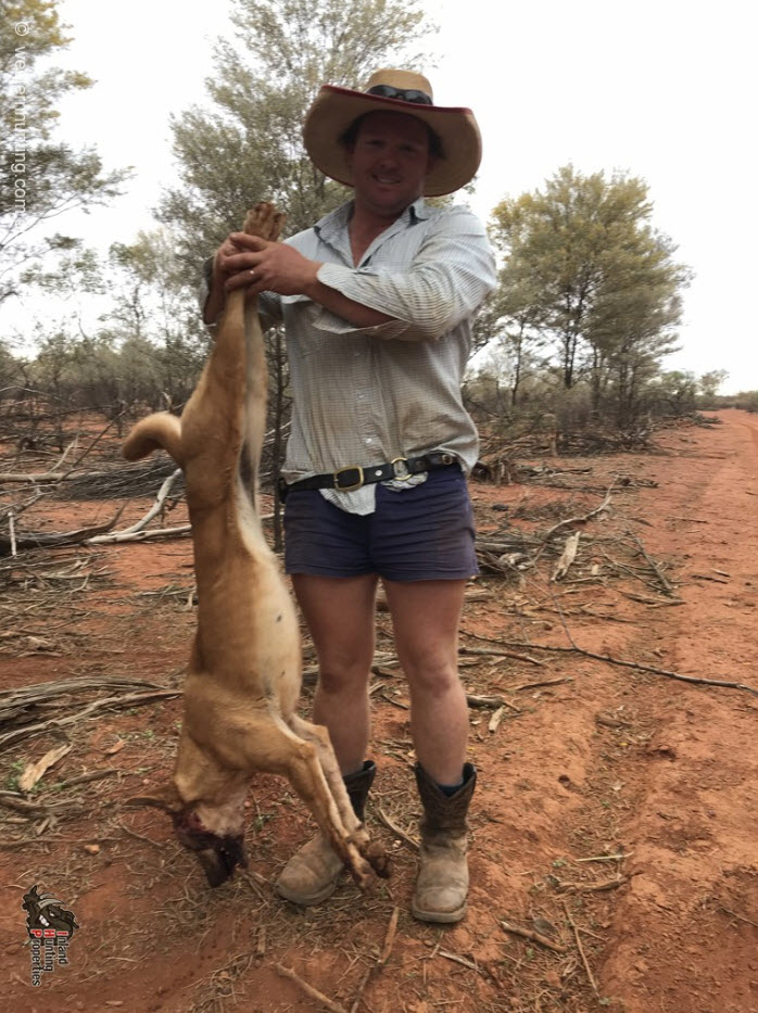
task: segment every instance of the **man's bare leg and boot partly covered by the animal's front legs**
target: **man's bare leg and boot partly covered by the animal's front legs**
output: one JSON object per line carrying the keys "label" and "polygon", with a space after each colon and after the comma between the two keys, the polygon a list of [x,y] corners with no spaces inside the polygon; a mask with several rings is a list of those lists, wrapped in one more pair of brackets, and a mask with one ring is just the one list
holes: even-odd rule
{"label": "man's bare leg and boot partly covered by the animal's front legs", "polygon": [[[364,757],[368,743],[368,680],[374,660],[377,577],[296,573],[292,575],[292,585],[318,658],[314,721],[329,730],[348,795],[363,820],[363,807],[374,780],[374,764],[364,763]],[[342,868],[342,860],[326,838],[317,834],[287,863],[277,881],[277,891],[294,903],[319,903],[334,890]]]}

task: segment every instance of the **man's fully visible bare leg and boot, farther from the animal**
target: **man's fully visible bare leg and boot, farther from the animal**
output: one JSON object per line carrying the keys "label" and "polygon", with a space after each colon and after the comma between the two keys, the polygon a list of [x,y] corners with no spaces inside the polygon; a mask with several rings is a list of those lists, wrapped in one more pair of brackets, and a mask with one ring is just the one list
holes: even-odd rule
{"label": "man's fully visible bare leg and boot, farther from the animal", "polygon": [[416,783],[424,806],[410,910],[457,922],[468,896],[467,823],[476,771],[465,762],[468,707],[457,671],[465,581],[384,581],[397,655],[410,691]]}

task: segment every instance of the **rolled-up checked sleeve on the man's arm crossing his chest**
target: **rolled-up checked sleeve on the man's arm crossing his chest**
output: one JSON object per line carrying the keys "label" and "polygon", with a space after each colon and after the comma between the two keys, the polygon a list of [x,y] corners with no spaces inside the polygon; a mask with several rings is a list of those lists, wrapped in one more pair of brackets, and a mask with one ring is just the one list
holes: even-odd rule
{"label": "rolled-up checked sleeve on the man's arm crossing his chest", "polygon": [[[430,229],[407,270],[352,269],[323,264],[318,280],[349,299],[394,319],[363,332],[403,341],[433,341],[472,316],[496,284],[495,262],[479,219],[451,208]],[[317,326],[341,329],[326,311]],[[356,333],[345,326],[344,333]]]}

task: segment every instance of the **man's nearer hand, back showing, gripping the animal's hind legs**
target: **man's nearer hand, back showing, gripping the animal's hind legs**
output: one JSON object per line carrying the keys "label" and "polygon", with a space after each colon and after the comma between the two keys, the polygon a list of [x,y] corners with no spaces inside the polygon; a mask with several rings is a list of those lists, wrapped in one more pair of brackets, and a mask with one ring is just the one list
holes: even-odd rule
{"label": "man's nearer hand, back showing, gripping the animal's hind legs", "polygon": [[321,266],[293,246],[271,243],[257,236],[232,232],[216,254],[219,275],[227,292],[245,288],[251,295],[276,292],[279,295],[307,295],[313,292]]}

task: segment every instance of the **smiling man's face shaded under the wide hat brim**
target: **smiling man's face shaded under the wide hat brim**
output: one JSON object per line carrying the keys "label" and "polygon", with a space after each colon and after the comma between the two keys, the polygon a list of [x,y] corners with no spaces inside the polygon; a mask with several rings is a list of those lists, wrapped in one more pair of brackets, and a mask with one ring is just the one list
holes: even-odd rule
{"label": "smiling man's face shaded under the wide hat brim", "polygon": [[424,193],[432,166],[429,132],[414,116],[369,113],[349,152],[355,202],[381,218],[396,218]]}

